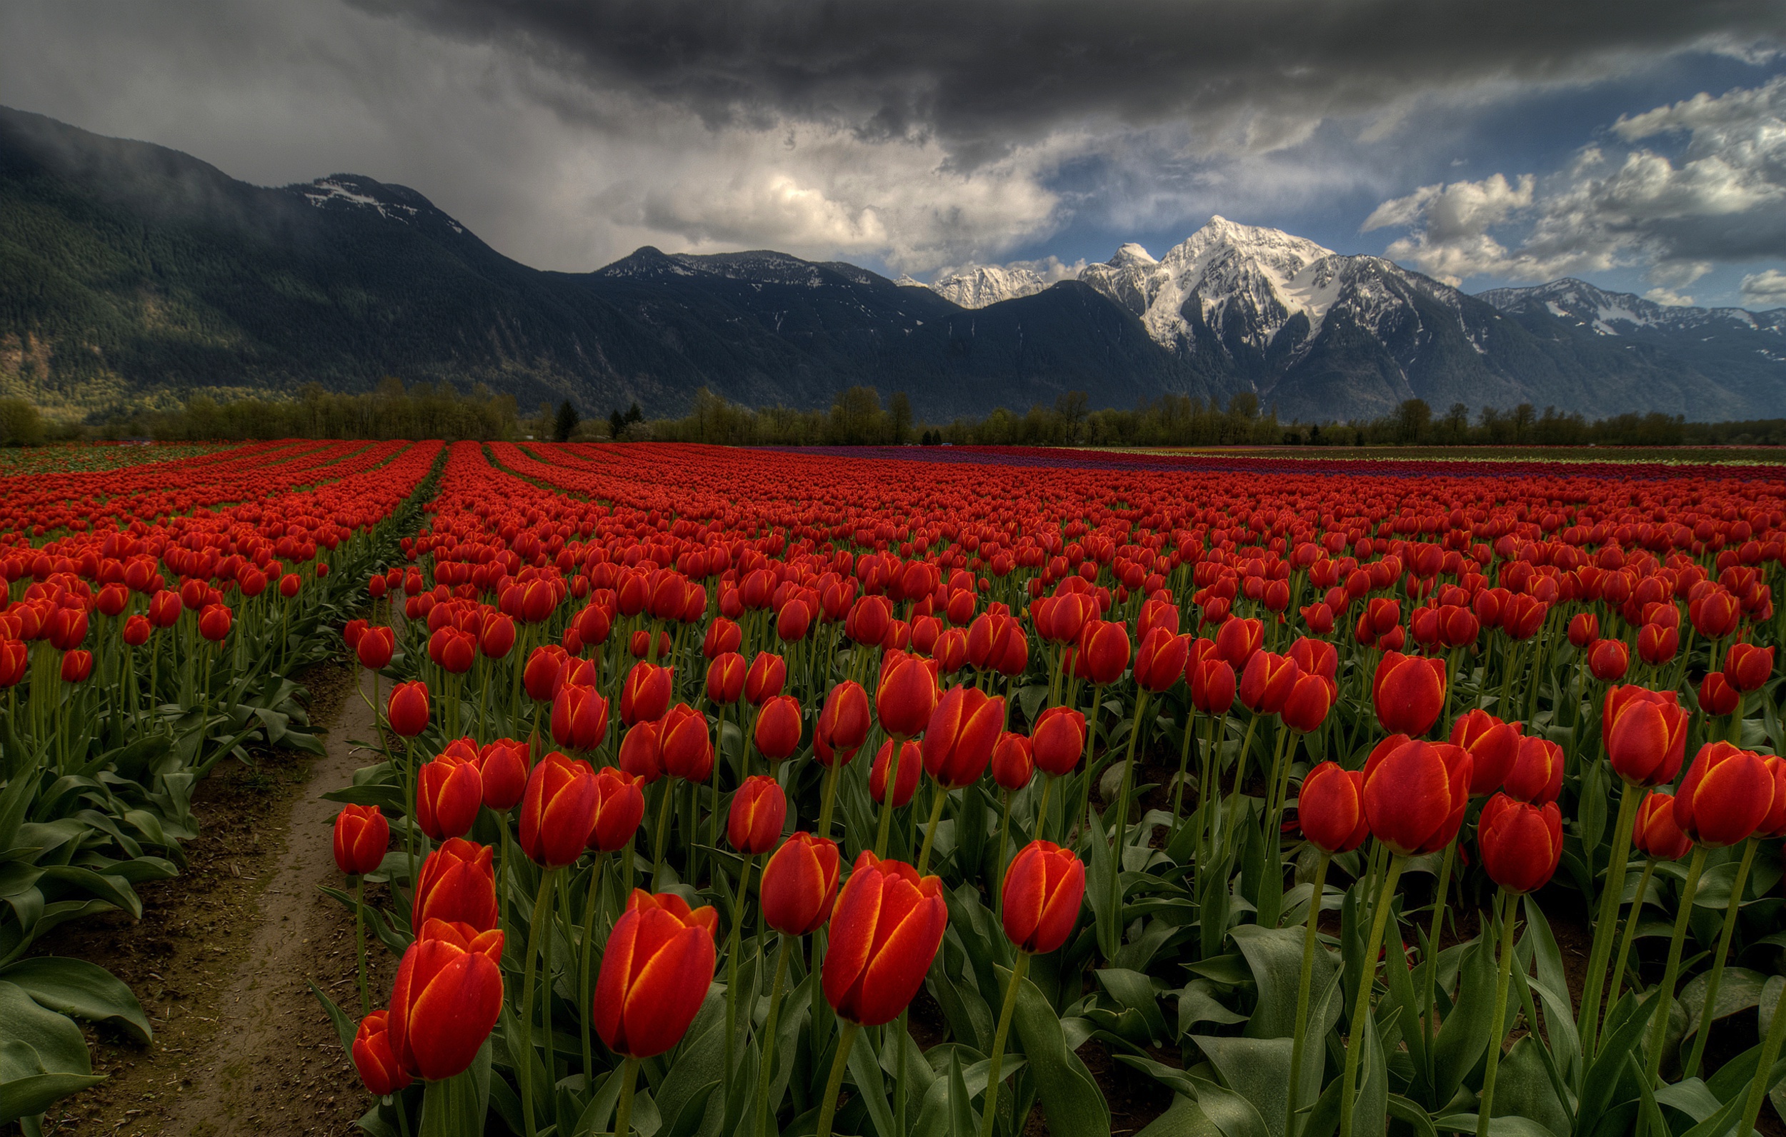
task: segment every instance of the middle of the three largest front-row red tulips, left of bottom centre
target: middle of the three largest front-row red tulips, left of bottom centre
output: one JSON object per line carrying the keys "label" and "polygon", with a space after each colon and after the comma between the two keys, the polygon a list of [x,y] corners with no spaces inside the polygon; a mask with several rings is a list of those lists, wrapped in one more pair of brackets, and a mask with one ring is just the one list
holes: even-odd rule
{"label": "middle of the three largest front-row red tulips, left of bottom centre", "polygon": [[595,1030],[611,1051],[650,1058],[682,1041],[713,983],[718,923],[673,892],[632,891],[595,982]]}

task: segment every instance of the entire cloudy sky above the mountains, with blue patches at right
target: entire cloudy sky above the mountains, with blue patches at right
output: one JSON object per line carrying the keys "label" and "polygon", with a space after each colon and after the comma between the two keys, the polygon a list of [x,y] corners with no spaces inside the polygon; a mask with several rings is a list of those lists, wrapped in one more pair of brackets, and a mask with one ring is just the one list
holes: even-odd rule
{"label": "entire cloudy sky above the mountains, with blue patches at right", "polygon": [[1211,214],[1477,291],[1786,305],[1786,0],[7,0],[0,104],[500,252],[931,278]]}

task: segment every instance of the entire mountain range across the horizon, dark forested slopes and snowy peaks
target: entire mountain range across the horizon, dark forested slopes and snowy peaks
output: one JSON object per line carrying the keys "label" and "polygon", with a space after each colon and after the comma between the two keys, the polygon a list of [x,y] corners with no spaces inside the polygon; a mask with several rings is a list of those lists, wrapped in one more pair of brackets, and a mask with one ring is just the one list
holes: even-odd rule
{"label": "entire mountain range across the horizon, dark forested slopes and snowy peaks", "polygon": [[488,384],[523,407],[707,386],[827,405],[868,384],[927,419],[1086,391],[1093,407],[1257,393],[1284,418],[1538,407],[1786,416],[1786,309],[1665,309],[1579,280],[1468,296],[1382,257],[1213,218],[1077,280],[975,268],[922,286],[777,252],[641,248],[539,271],[361,175],[261,187],[191,155],[0,109],[0,394],[54,416],[193,391]]}

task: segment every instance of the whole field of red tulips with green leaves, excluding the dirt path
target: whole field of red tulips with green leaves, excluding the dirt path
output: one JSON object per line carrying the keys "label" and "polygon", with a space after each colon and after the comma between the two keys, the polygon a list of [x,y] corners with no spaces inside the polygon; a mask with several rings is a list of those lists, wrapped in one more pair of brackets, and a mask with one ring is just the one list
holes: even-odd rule
{"label": "whole field of red tulips with green leaves, excluding the dirt path", "polygon": [[1602,457],[0,466],[0,1125],[336,659],[377,1137],[1786,1132],[1786,468]]}

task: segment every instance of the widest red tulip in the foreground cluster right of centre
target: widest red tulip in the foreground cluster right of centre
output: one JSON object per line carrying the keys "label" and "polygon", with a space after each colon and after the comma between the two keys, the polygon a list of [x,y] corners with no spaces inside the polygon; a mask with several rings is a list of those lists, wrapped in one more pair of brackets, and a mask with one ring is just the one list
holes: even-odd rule
{"label": "widest red tulip in the foreground cluster right of centre", "polygon": [[1470,801],[1470,751],[1448,743],[1377,746],[1365,762],[1370,832],[1404,857],[1436,853],[1463,826]]}

